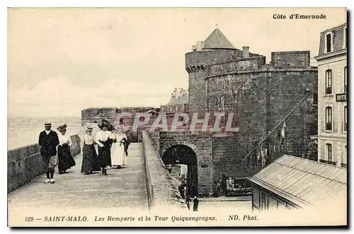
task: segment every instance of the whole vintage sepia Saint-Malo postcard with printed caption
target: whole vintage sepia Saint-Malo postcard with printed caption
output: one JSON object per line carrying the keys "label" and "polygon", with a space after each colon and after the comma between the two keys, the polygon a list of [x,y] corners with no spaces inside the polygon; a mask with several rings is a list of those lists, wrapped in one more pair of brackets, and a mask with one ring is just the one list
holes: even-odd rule
{"label": "whole vintage sepia Saint-Malo postcard with printed caption", "polygon": [[347,8],[8,8],[8,226],[347,226]]}

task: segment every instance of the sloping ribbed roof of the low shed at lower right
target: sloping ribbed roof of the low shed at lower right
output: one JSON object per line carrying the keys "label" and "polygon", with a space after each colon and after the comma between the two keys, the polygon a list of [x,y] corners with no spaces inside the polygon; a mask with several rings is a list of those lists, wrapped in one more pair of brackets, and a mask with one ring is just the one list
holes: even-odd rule
{"label": "sloping ribbed roof of the low shed at lower right", "polygon": [[285,155],[253,177],[270,185],[270,189],[275,187],[275,193],[278,192],[277,189],[282,191],[281,196],[289,196],[288,199],[294,196],[314,204],[329,196],[345,194],[347,170]]}

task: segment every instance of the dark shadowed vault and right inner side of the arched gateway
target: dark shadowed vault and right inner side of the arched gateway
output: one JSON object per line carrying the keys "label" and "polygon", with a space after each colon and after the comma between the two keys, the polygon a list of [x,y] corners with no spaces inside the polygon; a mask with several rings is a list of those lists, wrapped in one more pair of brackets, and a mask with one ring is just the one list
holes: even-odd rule
{"label": "dark shadowed vault and right inner side of the arched gateway", "polygon": [[183,144],[176,144],[166,149],[162,156],[165,165],[187,165],[187,195],[198,195],[198,160],[192,148]]}

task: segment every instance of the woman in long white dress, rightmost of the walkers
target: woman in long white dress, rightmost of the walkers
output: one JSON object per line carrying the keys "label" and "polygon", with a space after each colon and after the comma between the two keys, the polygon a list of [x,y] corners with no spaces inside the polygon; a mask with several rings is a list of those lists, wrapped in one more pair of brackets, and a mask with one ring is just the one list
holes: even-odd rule
{"label": "woman in long white dress, rightmost of the walkers", "polygon": [[127,165],[127,155],[124,150],[124,144],[127,140],[127,135],[122,132],[121,127],[116,127],[115,133],[112,134],[113,145],[110,148],[112,156],[112,166],[122,168],[122,165]]}

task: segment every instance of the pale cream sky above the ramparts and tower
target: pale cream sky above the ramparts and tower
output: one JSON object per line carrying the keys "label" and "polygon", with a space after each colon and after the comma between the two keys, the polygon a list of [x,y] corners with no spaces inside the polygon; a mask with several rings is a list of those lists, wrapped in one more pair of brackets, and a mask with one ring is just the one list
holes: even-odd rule
{"label": "pale cream sky above the ramparts and tower", "polygon": [[[275,20],[274,13],[324,13]],[[8,115],[80,116],[86,107],[159,106],[188,88],[185,53],[218,24],[234,47],[318,54],[343,8],[41,8],[8,11]]]}

